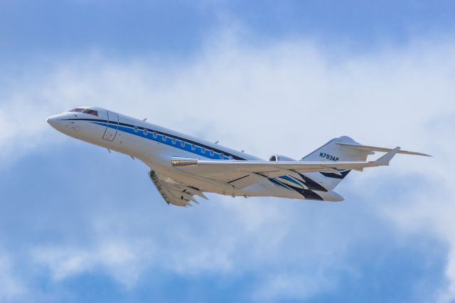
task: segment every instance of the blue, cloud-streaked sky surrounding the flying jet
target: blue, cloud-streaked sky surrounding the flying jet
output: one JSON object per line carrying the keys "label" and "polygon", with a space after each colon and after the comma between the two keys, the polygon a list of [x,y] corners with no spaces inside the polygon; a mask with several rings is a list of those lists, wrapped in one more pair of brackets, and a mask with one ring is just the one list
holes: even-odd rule
{"label": "blue, cloud-streaked sky surrounding the flying jet", "polygon": [[[397,3],[399,2],[399,3]],[[453,1],[0,0],[0,302],[454,302]],[[208,194],[65,137],[79,105],[267,159],[411,149],[343,203]]]}

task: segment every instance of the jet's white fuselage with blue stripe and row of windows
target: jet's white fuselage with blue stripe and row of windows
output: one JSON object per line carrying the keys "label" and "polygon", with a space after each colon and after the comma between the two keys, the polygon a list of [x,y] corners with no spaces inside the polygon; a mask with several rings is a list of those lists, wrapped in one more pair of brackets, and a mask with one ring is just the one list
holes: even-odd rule
{"label": "jet's white fuselage with blue stripe and row of windows", "polygon": [[[49,117],[48,123],[70,137],[137,158],[161,176],[183,184],[191,184],[201,191],[229,196],[303,198],[296,191],[289,191],[272,182],[258,182],[239,189],[227,182],[188,174],[172,166],[171,159],[174,157],[217,160],[261,159],[100,107],[84,108],[96,111],[97,116],[82,112],[64,112]],[[321,193],[324,194],[327,195]]]}

